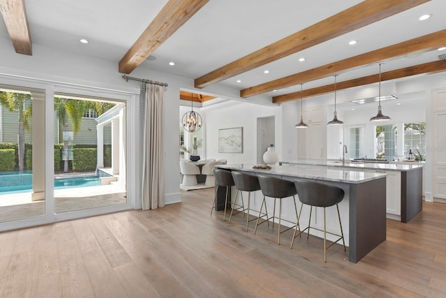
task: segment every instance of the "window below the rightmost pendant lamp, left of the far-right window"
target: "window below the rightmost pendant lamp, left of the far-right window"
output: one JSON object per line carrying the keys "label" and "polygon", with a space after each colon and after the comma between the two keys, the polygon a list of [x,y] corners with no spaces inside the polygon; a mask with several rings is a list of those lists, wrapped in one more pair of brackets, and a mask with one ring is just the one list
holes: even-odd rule
{"label": "window below the rightmost pendant lamp, left of the far-right window", "polygon": [[397,125],[375,126],[376,158],[393,161],[397,156]]}

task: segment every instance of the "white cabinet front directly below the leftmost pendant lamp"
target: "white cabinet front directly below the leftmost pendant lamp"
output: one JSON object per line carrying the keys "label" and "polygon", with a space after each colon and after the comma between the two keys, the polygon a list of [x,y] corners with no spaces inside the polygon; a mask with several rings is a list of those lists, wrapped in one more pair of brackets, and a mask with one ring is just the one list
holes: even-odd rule
{"label": "white cabinet front directly below the leftmost pendant lamp", "polygon": [[307,128],[298,129],[299,159],[323,158],[323,124],[308,124]]}

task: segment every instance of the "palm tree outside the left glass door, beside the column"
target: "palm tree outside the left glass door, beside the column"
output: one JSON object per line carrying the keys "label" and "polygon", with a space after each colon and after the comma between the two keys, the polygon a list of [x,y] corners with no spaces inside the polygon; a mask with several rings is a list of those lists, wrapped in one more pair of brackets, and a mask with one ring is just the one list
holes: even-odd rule
{"label": "palm tree outside the left glass door, beside the column", "polygon": [[[28,106],[26,106],[26,101],[30,103]],[[0,91],[0,104],[8,108],[10,112],[18,111],[19,172],[23,172],[25,156],[25,128],[27,131],[29,131],[29,119],[33,117],[31,96],[29,94]]]}

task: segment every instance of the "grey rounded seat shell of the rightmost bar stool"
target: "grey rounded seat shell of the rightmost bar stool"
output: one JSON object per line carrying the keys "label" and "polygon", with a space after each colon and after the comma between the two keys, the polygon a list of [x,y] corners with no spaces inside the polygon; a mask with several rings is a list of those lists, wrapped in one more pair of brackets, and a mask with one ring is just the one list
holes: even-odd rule
{"label": "grey rounded seat shell of the rightmost bar stool", "polygon": [[344,190],[337,186],[309,180],[296,180],[294,184],[303,204],[330,207],[344,199]]}

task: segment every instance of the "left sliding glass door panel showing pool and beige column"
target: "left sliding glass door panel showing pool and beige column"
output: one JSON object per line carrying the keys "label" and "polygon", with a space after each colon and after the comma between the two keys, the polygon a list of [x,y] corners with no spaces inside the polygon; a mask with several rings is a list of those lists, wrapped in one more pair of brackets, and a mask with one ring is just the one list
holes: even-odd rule
{"label": "left sliding glass door panel showing pool and beige column", "polygon": [[0,222],[45,215],[45,90],[0,85]]}

